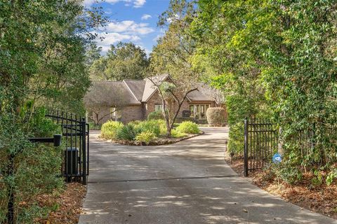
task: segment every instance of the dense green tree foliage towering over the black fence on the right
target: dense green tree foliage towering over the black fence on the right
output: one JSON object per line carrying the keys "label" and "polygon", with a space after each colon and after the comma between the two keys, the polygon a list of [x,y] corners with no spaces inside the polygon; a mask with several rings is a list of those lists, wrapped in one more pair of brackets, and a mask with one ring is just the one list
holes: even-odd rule
{"label": "dense green tree foliage towering over the black fence on the right", "polygon": [[[193,65],[226,93],[230,148],[242,151],[244,117],[268,117],[282,127],[291,169],[336,162],[329,134],[337,110],[336,1],[200,0],[198,6]],[[319,133],[310,137],[319,144],[306,158],[291,141],[299,130]]]}

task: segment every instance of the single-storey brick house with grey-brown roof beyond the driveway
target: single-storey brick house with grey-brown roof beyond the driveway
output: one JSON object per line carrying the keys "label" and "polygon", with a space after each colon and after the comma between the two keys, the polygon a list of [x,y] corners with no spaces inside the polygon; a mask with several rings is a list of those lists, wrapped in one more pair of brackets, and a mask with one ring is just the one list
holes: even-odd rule
{"label": "single-storey brick house with grey-brown roof beyond the driveway", "polygon": [[[170,81],[169,75],[156,78],[159,82]],[[198,90],[187,95],[187,100],[180,108],[178,120],[192,119],[199,123],[206,123],[206,110],[209,107],[221,106],[218,104],[219,94],[215,94],[216,91],[201,83],[198,85]],[[91,118],[93,120],[99,119],[98,123],[100,124],[107,122],[107,120],[120,120],[122,123],[145,120],[149,113],[162,110],[161,97],[157,87],[148,78],[144,80],[93,81],[87,95],[90,94],[95,97],[96,104],[100,109],[96,112],[96,116],[91,116]],[[86,102],[86,97],[84,101]],[[174,103],[169,105],[176,106]],[[186,117],[186,111],[191,112],[187,113],[188,117]],[[93,112],[88,109],[88,113]]]}

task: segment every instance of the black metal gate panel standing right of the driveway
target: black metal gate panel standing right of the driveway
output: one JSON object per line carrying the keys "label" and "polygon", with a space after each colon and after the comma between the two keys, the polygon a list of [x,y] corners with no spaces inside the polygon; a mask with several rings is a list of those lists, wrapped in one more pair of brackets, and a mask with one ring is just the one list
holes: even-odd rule
{"label": "black metal gate panel standing right of the driveway", "polygon": [[244,176],[272,162],[277,153],[275,124],[265,120],[244,120]]}

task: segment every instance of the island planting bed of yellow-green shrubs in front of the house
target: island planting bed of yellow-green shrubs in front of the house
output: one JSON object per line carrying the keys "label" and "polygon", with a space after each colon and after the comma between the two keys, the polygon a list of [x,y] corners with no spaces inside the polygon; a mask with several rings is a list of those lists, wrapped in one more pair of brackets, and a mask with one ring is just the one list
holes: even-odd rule
{"label": "island planting bed of yellow-green shrubs in front of the house", "polygon": [[171,130],[171,138],[166,137],[164,120],[133,121],[126,125],[109,121],[102,126],[100,138],[128,146],[159,146],[190,139],[199,134],[204,132],[190,121]]}

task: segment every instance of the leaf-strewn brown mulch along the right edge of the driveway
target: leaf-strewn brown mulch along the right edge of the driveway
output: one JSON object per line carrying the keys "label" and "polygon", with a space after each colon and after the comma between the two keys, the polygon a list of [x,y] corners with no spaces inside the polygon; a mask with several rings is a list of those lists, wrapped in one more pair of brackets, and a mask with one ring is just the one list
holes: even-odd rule
{"label": "leaf-strewn brown mulch along the right edge of the driveway", "polygon": [[[230,158],[226,162],[240,176],[244,174],[244,162],[242,158],[233,160],[231,165]],[[310,211],[317,212],[324,216],[337,218],[337,184],[332,183],[326,186],[312,186],[312,174],[303,174],[303,179],[295,185],[289,185],[283,181],[277,183],[277,179],[266,178],[267,172],[258,170],[249,173],[249,178],[259,188],[272,195],[277,195],[287,202],[298,205]]]}

